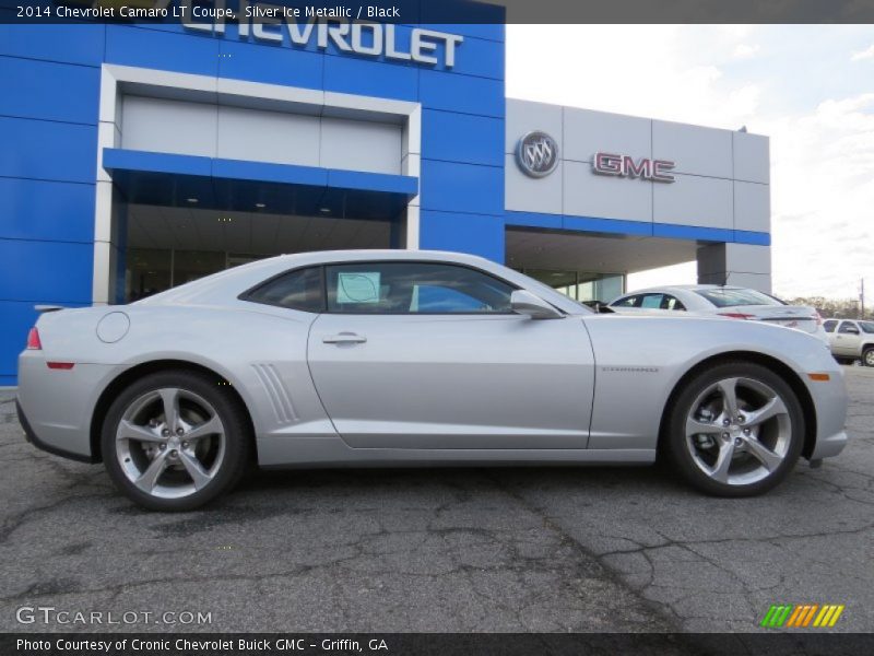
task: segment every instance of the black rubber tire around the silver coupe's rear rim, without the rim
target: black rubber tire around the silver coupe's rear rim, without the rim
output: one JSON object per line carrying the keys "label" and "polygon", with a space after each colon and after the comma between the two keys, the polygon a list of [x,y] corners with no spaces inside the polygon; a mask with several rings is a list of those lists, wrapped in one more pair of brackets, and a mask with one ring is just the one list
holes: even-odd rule
{"label": "black rubber tire around the silver coupe's rear rim, without the rim", "polygon": [[[101,438],[106,471],[120,492],[151,511],[187,512],[213,501],[239,482],[251,460],[251,429],[246,408],[226,384],[218,385],[218,382],[217,376],[186,370],[156,372],[128,386],[113,401]],[[201,397],[212,406],[224,427],[224,456],[215,466],[212,480],[201,489],[175,499],[155,496],[138,488],[122,469],[116,445],[116,433],[128,408],[144,395],[163,388],[178,388]]]}

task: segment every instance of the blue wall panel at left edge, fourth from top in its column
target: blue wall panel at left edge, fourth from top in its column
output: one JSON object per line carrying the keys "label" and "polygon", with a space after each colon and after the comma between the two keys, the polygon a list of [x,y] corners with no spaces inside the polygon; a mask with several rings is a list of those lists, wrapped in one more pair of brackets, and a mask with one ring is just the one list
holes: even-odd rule
{"label": "blue wall panel at left edge, fourth from top in its column", "polygon": [[0,178],[0,237],[94,241],[94,185]]}

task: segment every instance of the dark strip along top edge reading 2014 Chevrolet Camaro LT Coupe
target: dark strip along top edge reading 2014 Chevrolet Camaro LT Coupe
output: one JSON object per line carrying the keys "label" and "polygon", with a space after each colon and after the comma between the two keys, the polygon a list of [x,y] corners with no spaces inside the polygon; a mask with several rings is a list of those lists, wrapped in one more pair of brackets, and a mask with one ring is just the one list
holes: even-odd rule
{"label": "dark strip along top edge reading 2014 Chevrolet Camaro LT Coupe", "polygon": [[[256,7],[259,9],[256,10]],[[3,23],[874,23],[874,0],[0,0]]]}

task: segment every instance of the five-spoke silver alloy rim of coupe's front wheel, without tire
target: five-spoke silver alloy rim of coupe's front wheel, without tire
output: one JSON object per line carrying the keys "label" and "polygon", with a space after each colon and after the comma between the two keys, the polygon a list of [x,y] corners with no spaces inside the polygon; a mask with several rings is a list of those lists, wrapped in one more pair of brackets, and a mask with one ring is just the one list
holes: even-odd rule
{"label": "five-spoke silver alloy rim of coupe's front wheel, without tire", "polygon": [[686,419],[686,446],[712,480],[746,485],[786,459],[792,438],[789,409],[760,380],[724,378],[700,395]]}

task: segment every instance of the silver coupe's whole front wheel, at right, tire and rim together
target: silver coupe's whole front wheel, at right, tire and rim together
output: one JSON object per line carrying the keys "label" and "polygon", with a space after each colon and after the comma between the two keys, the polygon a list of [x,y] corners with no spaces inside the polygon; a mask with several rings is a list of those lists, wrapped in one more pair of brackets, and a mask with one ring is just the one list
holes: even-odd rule
{"label": "silver coupe's whole front wheel, at right, tire and rim together", "polygon": [[695,488],[753,496],[777,485],[799,459],[804,414],[771,370],[731,362],[690,379],[671,409],[668,455]]}

